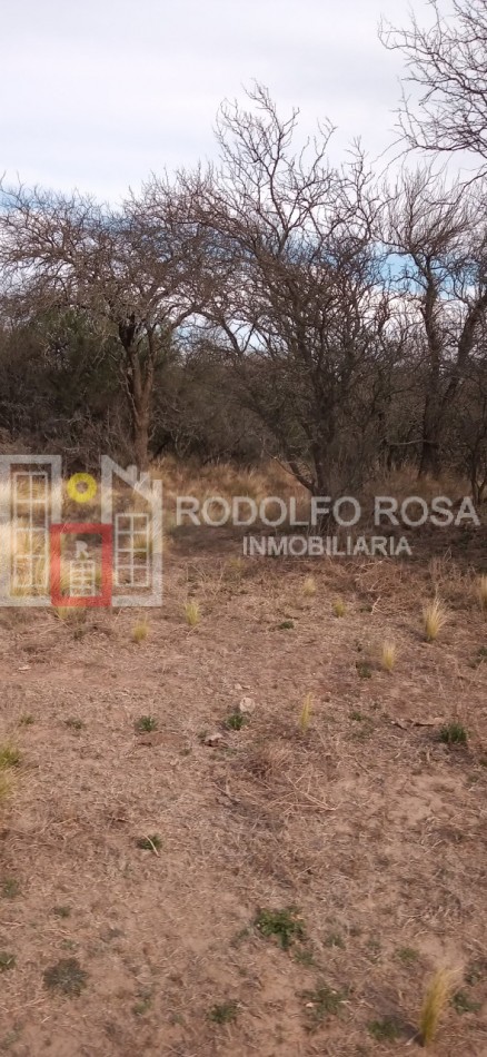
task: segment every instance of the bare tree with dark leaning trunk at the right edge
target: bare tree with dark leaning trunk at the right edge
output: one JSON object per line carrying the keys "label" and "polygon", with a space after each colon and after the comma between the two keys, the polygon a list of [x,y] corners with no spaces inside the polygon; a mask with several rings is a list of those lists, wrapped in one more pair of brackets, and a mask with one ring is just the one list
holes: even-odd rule
{"label": "bare tree with dark leaning trunk at the right edge", "polygon": [[437,475],[445,421],[487,314],[487,235],[477,196],[447,188],[430,168],[401,174],[387,198],[382,238],[416,320],[423,377],[419,473]]}

